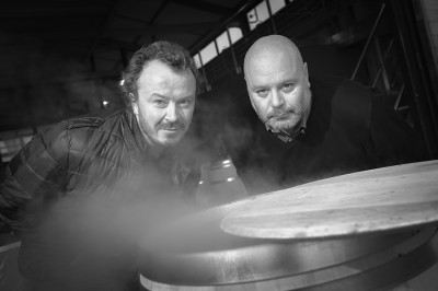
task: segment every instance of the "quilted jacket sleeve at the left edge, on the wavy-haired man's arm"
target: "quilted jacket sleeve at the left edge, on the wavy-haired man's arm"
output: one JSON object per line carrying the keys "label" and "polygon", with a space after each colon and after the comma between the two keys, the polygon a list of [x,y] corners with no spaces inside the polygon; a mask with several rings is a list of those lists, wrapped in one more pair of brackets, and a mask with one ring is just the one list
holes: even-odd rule
{"label": "quilted jacket sleeve at the left edge, on the wavy-haired man's arm", "polygon": [[65,124],[36,135],[7,165],[0,184],[0,219],[21,235],[65,188],[68,131]]}

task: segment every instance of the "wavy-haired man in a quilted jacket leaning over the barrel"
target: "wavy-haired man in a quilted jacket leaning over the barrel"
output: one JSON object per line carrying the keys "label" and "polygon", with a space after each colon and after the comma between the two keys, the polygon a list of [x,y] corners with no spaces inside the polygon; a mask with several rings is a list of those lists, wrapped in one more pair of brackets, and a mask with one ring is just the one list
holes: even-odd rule
{"label": "wavy-haired man in a quilted jacket leaning over the barrel", "polygon": [[31,290],[138,290],[138,235],[184,211],[198,81],[183,47],[142,47],[120,81],[128,108],[54,125],[9,163],[0,219]]}

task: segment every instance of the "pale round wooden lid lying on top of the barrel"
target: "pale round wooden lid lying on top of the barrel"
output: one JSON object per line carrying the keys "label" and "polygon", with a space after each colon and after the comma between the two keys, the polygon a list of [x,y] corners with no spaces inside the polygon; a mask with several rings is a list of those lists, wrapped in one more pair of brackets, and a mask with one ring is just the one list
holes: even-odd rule
{"label": "pale round wooden lid lying on top of the barrel", "polygon": [[357,172],[252,197],[220,228],[257,238],[323,238],[438,222],[438,160]]}

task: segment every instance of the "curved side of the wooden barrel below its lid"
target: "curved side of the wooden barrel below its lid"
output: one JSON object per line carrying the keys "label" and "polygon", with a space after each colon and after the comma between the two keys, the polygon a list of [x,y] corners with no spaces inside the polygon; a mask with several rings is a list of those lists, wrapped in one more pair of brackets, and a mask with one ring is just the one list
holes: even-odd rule
{"label": "curved side of the wooden barrel below its lid", "polygon": [[[145,290],[436,290],[436,228],[319,242],[154,253]],[[412,289],[413,287],[419,289]],[[410,287],[411,289],[401,289]]]}

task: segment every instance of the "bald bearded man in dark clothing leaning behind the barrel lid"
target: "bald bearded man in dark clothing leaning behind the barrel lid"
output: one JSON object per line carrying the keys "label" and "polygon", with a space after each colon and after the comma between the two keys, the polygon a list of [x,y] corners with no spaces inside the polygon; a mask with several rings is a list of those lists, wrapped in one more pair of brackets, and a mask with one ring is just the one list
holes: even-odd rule
{"label": "bald bearded man in dark clothing leaning behind the barrel lid", "polygon": [[[425,159],[420,138],[381,95],[346,79],[309,78],[299,49],[285,36],[251,46],[244,78],[266,129],[241,170],[252,193]],[[262,187],[256,172],[272,185]]]}

